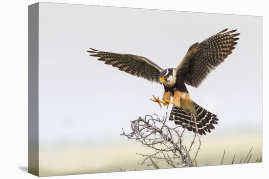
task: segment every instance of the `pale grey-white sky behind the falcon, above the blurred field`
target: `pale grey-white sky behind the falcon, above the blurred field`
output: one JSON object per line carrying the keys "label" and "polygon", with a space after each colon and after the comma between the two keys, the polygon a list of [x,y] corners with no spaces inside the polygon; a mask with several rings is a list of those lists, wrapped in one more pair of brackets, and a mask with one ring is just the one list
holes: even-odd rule
{"label": "pale grey-white sky behind the falcon, above the blurred field", "polygon": [[90,47],[144,56],[165,69],[225,28],[241,33],[236,49],[199,88],[187,88],[220,119],[207,136],[261,132],[261,17],[41,3],[39,18],[41,147],[126,141],[119,134],[131,130],[130,120],[166,112],[149,100],[162,97],[163,86],[103,64]]}

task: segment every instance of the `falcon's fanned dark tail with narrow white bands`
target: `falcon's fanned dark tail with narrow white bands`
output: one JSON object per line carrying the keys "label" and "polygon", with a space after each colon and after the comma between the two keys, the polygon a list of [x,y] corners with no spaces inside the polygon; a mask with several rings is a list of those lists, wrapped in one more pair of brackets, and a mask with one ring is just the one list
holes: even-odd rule
{"label": "falcon's fanned dark tail with narrow white bands", "polygon": [[203,109],[201,106],[194,102],[195,110],[197,116],[195,116],[191,111],[189,115],[184,112],[181,107],[173,106],[169,120],[174,120],[175,124],[181,125],[184,129],[188,131],[193,131],[194,133],[199,133],[200,135],[206,135],[205,132],[211,132],[215,129],[213,124],[218,124],[217,115],[210,113],[209,111]]}

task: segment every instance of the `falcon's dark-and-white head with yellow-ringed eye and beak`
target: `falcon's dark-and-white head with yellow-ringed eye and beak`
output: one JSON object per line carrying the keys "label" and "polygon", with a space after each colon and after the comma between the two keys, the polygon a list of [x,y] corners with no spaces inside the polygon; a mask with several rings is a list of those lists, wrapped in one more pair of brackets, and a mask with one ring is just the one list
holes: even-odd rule
{"label": "falcon's dark-and-white head with yellow-ringed eye and beak", "polygon": [[167,68],[160,72],[158,79],[165,86],[173,86],[177,81],[177,72],[174,68]]}

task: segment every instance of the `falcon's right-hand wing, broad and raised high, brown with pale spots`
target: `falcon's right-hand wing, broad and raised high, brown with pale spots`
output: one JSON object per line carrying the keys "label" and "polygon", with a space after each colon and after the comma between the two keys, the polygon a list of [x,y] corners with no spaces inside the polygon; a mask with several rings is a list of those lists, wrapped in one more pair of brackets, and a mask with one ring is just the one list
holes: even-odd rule
{"label": "falcon's right-hand wing, broad and raised high, brown with pale spots", "polygon": [[236,30],[226,32],[227,29],[218,34],[190,46],[187,54],[177,67],[178,74],[184,78],[184,82],[193,87],[198,87],[207,77],[211,70],[221,64],[235,49],[234,38],[239,34],[232,34]]}

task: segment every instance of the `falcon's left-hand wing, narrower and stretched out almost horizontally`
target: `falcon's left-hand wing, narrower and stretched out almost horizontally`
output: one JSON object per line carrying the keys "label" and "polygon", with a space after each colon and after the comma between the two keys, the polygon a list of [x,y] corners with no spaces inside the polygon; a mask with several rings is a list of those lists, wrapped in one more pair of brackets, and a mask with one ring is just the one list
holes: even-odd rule
{"label": "falcon's left-hand wing, narrower and stretched out almost horizontally", "polygon": [[100,57],[98,60],[105,61],[105,64],[117,67],[119,70],[131,75],[159,83],[158,75],[162,71],[162,68],[145,57],[90,49],[91,51],[87,51],[93,53],[90,56]]}

